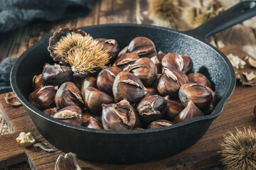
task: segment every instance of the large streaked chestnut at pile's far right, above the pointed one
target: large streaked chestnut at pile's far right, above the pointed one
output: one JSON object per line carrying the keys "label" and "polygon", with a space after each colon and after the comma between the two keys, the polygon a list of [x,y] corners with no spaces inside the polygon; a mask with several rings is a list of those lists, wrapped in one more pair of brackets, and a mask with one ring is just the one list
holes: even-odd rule
{"label": "large streaked chestnut at pile's far right, above the pointed one", "polygon": [[187,106],[189,101],[193,101],[201,110],[206,109],[213,100],[212,92],[201,84],[183,84],[178,91],[178,97],[183,106]]}

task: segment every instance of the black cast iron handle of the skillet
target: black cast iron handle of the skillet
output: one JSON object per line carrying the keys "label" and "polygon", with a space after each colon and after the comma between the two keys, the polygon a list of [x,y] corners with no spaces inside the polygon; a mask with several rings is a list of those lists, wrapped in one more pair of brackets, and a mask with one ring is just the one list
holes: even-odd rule
{"label": "black cast iron handle of the skillet", "polygon": [[183,33],[191,35],[199,40],[205,41],[210,35],[230,28],[237,23],[256,15],[256,1],[242,1],[235,6],[223,11],[218,16],[206,21],[198,28],[187,30]]}

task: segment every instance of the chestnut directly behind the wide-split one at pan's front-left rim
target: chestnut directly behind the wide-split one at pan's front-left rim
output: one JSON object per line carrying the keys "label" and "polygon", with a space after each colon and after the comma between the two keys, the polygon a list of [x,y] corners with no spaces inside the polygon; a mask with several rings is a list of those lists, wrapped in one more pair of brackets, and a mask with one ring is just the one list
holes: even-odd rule
{"label": "chestnut directly behind the wide-split one at pan's front-left rim", "polygon": [[84,101],[82,94],[73,82],[65,82],[58,89],[55,95],[55,103],[58,109],[65,108],[66,106],[80,106],[84,108]]}

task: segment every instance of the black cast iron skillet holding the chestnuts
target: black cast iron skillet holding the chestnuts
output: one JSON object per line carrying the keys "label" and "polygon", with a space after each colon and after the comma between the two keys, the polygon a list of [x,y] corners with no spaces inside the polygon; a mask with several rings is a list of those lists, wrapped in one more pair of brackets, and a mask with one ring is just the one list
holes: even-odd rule
{"label": "black cast iron skillet holding the chestnuts", "polygon": [[117,40],[120,49],[133,38],[145,36],[155,43],[157,51],[191,56],[193,72],[206,75],[217,94],[218,105],[206,116],[171,127],[134,131],[95,130],[51,118],[32,106],[28,102],[28,95],[33,90],[33,76],[41,74],[46,62],[53,63],[47,51],[52,33],[44,36],[18,58],[11,72],[12,89],[43,137],[63,152],[73,152],[80,159],[107,163],[149,162],[169,157],[190,147],[203,136],[210,123],[223,111],[225,102],[235,88],[232,65],[223,53],[206,43],[205,38],[255,16],[255,6],[255,1],[243,1],[202,26],[186,32],[136,24],[81,28],[93,38]]}

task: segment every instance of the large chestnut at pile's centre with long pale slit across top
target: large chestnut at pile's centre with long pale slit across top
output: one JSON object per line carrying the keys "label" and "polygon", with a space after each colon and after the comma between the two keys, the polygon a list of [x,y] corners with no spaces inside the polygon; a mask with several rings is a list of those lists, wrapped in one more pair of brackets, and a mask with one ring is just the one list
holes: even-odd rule
{"label": "large chestnut at pile's centre with long pale slit across top", "polygon": [[114,79],[113,95],[116,101],[127,98],[130,103],[137,103],[148,93],[142,81],[130,72],[120,72]]}

